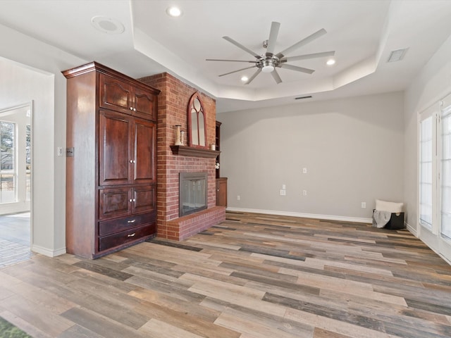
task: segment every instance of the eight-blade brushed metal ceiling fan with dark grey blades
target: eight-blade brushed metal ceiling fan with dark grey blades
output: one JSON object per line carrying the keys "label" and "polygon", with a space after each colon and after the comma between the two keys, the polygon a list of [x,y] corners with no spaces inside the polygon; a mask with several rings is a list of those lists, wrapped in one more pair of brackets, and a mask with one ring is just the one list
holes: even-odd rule
{"label": "eight-blade brushed metal ceiling fan with dark grey blades", "polygon": [[257,71],[252,75],[249,80],[245,84],[249,84],[252,82],[252,80],[257,77],[261,72],[263,73],[271,73],[273,75],[273,79],[279,84],[282,82],[282,79],[280,79],[280,76],[277,73],[276,68],[285,68],[290,70],[296,70],[297,72],[307,73],[311,74],[314,72],[313,69],[309,68],[303,68],[298,67],[297,65],[290,65],[287,62],[288,61],[299,61],[299,60],[307,60],[309,58],[322,58],[325,56],[333,56],[335,55],[335,51],[323,51],[321,53],[314,53],[314,54],[304,54],[299,56],[286,56],[287,54],[290,54],[290,52],[294,51],[295,49],[298,49],[301,46],[304,46],[304,44],[308,44],[309,42],[314,41],[314,39],[318,39],[319,37],[326,34],[326,30],[323,28],[317,32],[314,32],[312,35],[309,35],[308,37],[305,37],[304,39],[300,40],[299,42],[296,42],[292,46],[288,47],[287,49],[284,49],[283,51],[280,51],[278,54],[274,54],[274,49],[276,47],[276,40],[278,36],[280,28],[280,23],[276,23],[273,21],[271,23],[271,31],[269,32],[269,38],[263,42],[264,48],[266,48],[266,53],[259,55],[255,53],[254,51],[251,51],[247,47],[243,46],[239,42],[236,42],[231,37],[223,37],[223,39],[226,39],[228,42],[235,44],[238,48],[242,49],[243,51],[246,51],[247,53],[254,56],[254,61],[244,61],[244,60],[221,60],[216,58],[207,58],[206,61],[230,61],[230,62],[247,62],[247,63],[254,63],[254,65],[246,68],[242,68],[239,70],[234,70],[233,72],[229,72],[226,74],[221,74],[219,76],[229,75],[233,73],[240,72],[242,70],[246,70],[249,68],[257,68]]}

